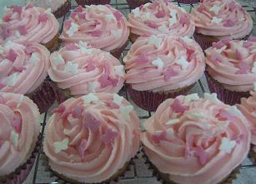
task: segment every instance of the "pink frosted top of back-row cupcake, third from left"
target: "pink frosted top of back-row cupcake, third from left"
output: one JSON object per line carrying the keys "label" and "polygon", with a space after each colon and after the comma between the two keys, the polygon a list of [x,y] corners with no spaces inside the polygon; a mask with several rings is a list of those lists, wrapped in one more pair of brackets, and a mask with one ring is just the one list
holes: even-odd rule
{"label": "pink frosted top of back-row cupcake, third from left", "polygon": [[172,2],[148,2],[136,7],[128,15],[131,32],[138,36],[168,34],[192,37],[195,29],[193,18]]}

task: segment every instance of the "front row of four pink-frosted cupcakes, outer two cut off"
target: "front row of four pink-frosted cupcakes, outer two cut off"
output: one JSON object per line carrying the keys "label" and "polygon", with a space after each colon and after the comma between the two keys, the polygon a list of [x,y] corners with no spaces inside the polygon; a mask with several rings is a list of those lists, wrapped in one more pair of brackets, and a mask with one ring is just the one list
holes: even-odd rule
{"label": "front row of four pink-frosted cupcakes, outer two cut off", "polygon": [[[31,154],[39,135],[38,107],[20,94],[1,92],[0,99],[0,183],[22,183],[35,158]],[[163,102],[141,132],[126,99],[90,93],[71,97],[53,110],[43,151],[58,180],[70,183],[117,179],[141,143],[164,182],[232,183],[248,152],[255,157],[250,148],[255,144],[255,107],[255,92],[238,106],[243,113],[214,93],[178,96]]]}

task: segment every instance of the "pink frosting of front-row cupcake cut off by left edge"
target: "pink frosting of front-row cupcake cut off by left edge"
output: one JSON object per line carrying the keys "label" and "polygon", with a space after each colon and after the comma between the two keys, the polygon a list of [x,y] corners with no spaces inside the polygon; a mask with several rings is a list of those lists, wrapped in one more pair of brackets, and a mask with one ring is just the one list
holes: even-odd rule
{"label": "pink frosting of front-row cupcake cut off by left edge", "polygon": [[27,162],[39,136],[40,114],[28,97],[0,92],[0,177]]}

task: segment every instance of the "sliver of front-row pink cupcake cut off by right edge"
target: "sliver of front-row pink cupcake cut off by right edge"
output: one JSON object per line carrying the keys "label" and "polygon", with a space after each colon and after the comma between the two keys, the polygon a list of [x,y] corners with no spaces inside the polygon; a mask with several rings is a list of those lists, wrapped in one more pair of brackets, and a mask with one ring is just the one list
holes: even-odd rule
{"label": "sliver of front-row pink cupcake cut off by right edge", "polygon": [[249,156],[256,159],[256,83],[254,91],[251,91],[250,94],[250,97],[242,98],[238,108],[243,112],[244,117],[248,119],[248,127],[252,133]]}

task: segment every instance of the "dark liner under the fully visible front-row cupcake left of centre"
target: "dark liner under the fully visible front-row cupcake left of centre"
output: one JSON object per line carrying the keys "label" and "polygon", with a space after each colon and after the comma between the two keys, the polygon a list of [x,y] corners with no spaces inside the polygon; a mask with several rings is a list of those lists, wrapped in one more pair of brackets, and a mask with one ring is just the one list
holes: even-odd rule
{"label": "dark liner under the fully visible front-row cupcake left of centre", "polygon": [[[134,158],[136,159],[136,156]],[[130,168],[134,165],[134,162],[133,162],[134,158],[126,162],[124,166],[121,169],[119,169],[118,172],[116,172],[107,181],[98,182],[95,184],[110,184],[112,182],[118,182],[120,180],[120,177],[123,177],[125,175],[125,172],[130,171]],[[71,184],[89,184],[89,183],[74,181],[73,179],[70,179],[68,177],[63,176],[62,174],[59,174],[58,172],[53,171],[48,164],[48,157],[45,154],[42,155],[41,159],[43,160],[43,166],[45,167],[45,172],[49,172],[50,177],[55,177],[55,182],[71,183]]]}

